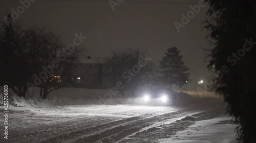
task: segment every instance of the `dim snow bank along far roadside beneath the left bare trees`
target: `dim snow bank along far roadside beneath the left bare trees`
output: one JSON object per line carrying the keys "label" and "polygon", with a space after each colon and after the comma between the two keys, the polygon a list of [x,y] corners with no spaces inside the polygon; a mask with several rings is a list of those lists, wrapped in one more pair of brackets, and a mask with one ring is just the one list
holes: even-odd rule
{"label": "dim snow bank along far roadside beneath the left bare trees", "polygon": [[[4,93],[3,87],[0,93]],[[17,106],[51,106],[51,105],[77,105],[77,104],[122,104],[120,92],[113,90],[95,90],[82,88],[61,88],[51,92],[47,99],[39,97],[40,88],[29,88],[26,98],[18,97],[11,89],[8,90],[10,105]],[[0,105],[3,105],[3,94]],[[108,95],[108,96],[106,96]],[[112,97],[110,98],[111,95]]]}

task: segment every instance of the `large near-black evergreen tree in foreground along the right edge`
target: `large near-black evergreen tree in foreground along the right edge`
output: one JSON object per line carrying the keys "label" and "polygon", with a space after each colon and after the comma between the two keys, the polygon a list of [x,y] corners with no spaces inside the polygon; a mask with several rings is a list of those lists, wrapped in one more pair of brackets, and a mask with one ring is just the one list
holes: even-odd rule
{"label": "large near-black evergreen tree in foreground along the right edge", "polygon": [[228,104],[237,136],[255,142],[256,130],[256,16],[255,1],[207,0],[206,28],[213,42],[208,68],[218,71],[217,93]]}

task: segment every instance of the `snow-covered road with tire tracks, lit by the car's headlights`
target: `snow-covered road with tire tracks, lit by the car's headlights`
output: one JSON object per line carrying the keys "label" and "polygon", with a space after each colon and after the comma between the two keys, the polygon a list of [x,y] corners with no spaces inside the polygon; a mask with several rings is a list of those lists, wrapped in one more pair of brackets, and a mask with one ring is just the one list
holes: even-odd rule
{"label": "snow-covered road with tire tracks, lit by the car's headlights", "polygon": [[160,142],[197,121],[214,119],[225,112],[221,104],[72,105],[10,107],[10,110],[8,142],[15,143]]}

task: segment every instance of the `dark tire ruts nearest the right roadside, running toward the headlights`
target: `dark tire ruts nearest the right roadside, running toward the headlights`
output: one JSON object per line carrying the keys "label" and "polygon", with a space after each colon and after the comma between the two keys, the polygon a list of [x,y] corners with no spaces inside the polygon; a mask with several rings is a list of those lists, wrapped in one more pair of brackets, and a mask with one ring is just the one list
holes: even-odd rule
{"label": "dark tire ruts nearest the right roadside, running toward the headlights", "polygon": [[[108,138],[111,136],[115,136],[115,139],[119,140],[122,137],[125,137],[131,133],[134,133],[138,131],[141,128],[144,128],[146,126],[150,126],[152,123],[159,121],[159,120],[165,120],[167,117],[174,118],[181,115],[187,115],[189,110],[182,109],[174,112],[165,112],[165,113],[159,113],[157,115],[152,115],[148,117],[144,117],[138,120],[132,120],[130,122],[126,122],[123,124],[117,124],[115,126],[111,125],[109,127],[103,127],[102,129],[96,129],[92,130],[94,133],[90,134],[83,134],[80,136],[71,136],[69,140],[63,141],[65,143],[70,142],[96,142],[99,140],[104,140],[104,138]],[[123,132],[124,131],[124,132]],[[122,132],[122,133],[120,133]],[[120,133],[120,134],[118,134]],[[117,135],[118,134],[118,135]],[[76,135],[76,134],[74,134]]]}

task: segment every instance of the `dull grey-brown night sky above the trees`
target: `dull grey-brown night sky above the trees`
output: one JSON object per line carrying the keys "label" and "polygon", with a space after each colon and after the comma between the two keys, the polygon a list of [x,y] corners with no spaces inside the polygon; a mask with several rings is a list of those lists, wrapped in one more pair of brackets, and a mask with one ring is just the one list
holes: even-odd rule
{"label": "dull grey-brown night sky above the trees", "polygon": [[[181,50],[185,64],[190,68],[190,83],[207,78],[202,48],[209,48],[202,31],[208,6],[190,20],[178,33],[175,21],[181,22],[181,14],[190,11],[190,5],[198,1],[147,1],[181,2],[195,4],[121,3],[112,10],[109,2],[69,2],[37,0],[20,14],[18,21],[24,26],[33,24],[47,26],[49,30],[62,35],[65,43],[74,39],[75,33],[82,33],[87,54],[104,57],[111,49],[127,47],[141,48],[148,53],[155,64],[162,59],[167,48],[176,46]],[[0,2],[0,17],[4,17],[20,6],[18,1]]]}

